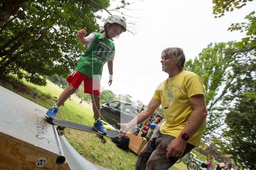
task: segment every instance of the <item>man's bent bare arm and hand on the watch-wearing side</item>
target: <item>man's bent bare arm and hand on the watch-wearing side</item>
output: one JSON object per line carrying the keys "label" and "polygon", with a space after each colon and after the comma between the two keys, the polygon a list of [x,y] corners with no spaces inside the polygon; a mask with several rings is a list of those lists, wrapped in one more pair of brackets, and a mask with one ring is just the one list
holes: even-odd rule
{"label": "man's bent bare arm and hand on the watch-wearing side", "polygon": [[[193,111],[182,132],[186,133],[189,137],[192,137],[204,122],[204,119],[207,116],[207,111],[204,95],[196,94],[189,98],[189,102]],[[182,156],[185,151],[187,142],[188,141],[182,139],[181,136],[178,136],[168,145],[168,152],[166,154],[166,157],[168,158],[169,156]]]}

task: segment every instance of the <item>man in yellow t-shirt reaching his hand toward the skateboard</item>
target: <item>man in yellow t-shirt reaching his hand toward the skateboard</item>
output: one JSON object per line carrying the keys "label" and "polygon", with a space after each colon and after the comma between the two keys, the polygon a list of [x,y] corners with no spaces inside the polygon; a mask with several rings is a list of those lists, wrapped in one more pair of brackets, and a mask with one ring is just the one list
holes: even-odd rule
{"label": "man in yellow t-shirt reaching his hand toward the skateboard", "polygon": [[136,170],[167,170],[175,162],[198,147],[206,126],[204,84],[197,74],[184,71],[185,55],[181,48],[166,48],[162,52],[162,70],[168,79],[158,85],[148,108],[121,126],[125,135],[154,114],[162,105],[166,122],[140,152]]}

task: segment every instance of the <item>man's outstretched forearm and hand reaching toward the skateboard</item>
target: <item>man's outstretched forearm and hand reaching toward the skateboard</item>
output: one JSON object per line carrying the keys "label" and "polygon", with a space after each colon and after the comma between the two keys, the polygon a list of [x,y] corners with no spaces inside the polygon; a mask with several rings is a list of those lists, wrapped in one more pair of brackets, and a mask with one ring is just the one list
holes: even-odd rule
{"label": "man's outstretched forearm and hand reaching toward the skateboard", "polygon": [[125,123],[125,124],[118,123],[118,125],[121,126],[120,131],[122,132],[122,135],[124,136],[125,133],[128,133],[132,127],[139,125],[140,123],[147,120],[150,116],[152,116],[154,114],[154,111],[157,110],[157,108],[160,105],[161,105],[161,102],[151,99],[151,101],[148,104],[148,108],[146,108],[146,110],[142,111],[137,117],[132,119],[131,122]]}

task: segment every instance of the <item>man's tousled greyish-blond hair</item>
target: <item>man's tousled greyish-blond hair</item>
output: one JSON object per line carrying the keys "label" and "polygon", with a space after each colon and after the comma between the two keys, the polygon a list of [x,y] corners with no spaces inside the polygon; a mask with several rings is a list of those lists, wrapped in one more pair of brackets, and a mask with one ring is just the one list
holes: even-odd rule
{"label": "man's tousled greyish-blond hair", "polygon": [[175,62],[175,64],[177,64],[177,66],[180,69],[184,68],[186,58],[182,48],[178,48],[178,47],[166,48],[162,51],[162,56],[166,56],[166,55],[169,57],[172,57],[172,60]]}

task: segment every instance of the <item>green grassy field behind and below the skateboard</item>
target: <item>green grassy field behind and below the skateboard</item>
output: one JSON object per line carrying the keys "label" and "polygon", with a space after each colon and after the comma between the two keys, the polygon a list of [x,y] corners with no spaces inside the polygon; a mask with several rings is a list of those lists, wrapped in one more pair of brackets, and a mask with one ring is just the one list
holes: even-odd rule
{"label": "green grassy field behind and below the skateboard", "polygon": [[[26,81],[16,85],[13,85],[13,81],[11,82],[0,82],[0,85],[45,108],[52,107],[55,103],[52,96],[58,97],[63,91],[62,88],[49,81],[47,81],[47,86],[44,87],[33,85]],[[28,86],[29,91],[26,88],[24,90],[26,92],[17,90],[22,83]],[[64,106],[61,106],[56,118],[92,126],[94,122],[92,106],[86,102],[78,105],[79,101],[80,99],[77,97],[73,101],[67,100]],[[111,170],[134,170],[137,155],[131,151],[126,152],[119,149],[109,138],[106,138],[106,144],[102,144],[100,139],[96,138],[96,135],[70,128],[65,130],[65,137],[81,156],[93,164]],[[186,169],[186,165],[182,162],[169,168],[169,170]]]}

